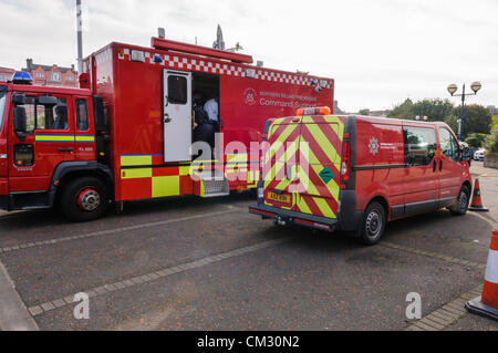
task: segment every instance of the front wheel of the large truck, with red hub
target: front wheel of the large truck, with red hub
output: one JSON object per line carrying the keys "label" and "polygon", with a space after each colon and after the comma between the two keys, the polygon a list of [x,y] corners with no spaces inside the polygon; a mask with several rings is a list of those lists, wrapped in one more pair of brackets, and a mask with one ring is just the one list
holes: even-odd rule
{"label": "front wheel of the large truck, with red hub", "polygon": [[72,221],[97,219],[104,215],[107,206],[108,193],[105,184],[97,178],[74,179],[62,190],[60,208]]}

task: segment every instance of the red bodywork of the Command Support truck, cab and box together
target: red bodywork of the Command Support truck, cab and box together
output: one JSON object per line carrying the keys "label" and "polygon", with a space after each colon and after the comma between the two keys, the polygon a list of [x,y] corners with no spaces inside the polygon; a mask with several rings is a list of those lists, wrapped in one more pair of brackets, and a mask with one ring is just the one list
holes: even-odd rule
{"label": "red bodywork of the Command Support truck, cab and box together", "polygon": [[[217,77],[220,133],[224,138],[220,154],[216,158],[221,165],[228,160],[224,154],[227,145],[241,142],[247,149],[245,155],[249,156],[246,157],[247,169],[259,166],[260,150],[251,149],[251,143],[261,142],[264,123],[269,117],[292,115],[303,106],[333,106],[334,81],[331,79],[252,66],[252,58],[249,55],[191,44],[153,39],[153,45],[155,48],[111,43],[92,54],[84,60],[80,90],[2,84],[8,87],[8,96],[3,124],[0,126],[0,156],[8,157],[0,158],[0,196],[7,198],[11,194],[46,193],[58,185],[59,180],[53,179],[54,170],[61,163],[98,159],[93,118],[94,96],[102,96],[104,101],[107,123],[107,131],[103,134],[106,144],[105,164],[114,175],[110,183],[114,187],[114,200],[146,199],[164,193],[172,196],[200,195],[199,184],[185,173],[188,164],[164,163],[165,70]],[[134,51],[143,53],[142,61],[132,60]],[[68,106],[68,128],[34,131],[27,135],[25,141],[21,141],[12,127],[11,97],[15,92],[27,96],[53,95],[64,100]],[[90,117],[86,131],[79,131],[76,126],[76,100],[86,101]],[[20,167],[15,164],[13,149],[19,144],[33,146],[33,165]],[[132,160],[135,157],[147,163],[141,165],[142,169],[124,170],[124,158]],[[167,177],[179,183],[179,186],[157,184],[160,178],[166,180]],[[257,179],[252,175],[252,179],[230,180],[229,187],[256,187]],[[53,195],[55,194],[50,196],[50,203],[43,201],[41,207],[51,207]],[[18,207],[8,204],[11,201],[2,203],[10,205],[7,207],[9,209],[33,208],[24,204]]]}

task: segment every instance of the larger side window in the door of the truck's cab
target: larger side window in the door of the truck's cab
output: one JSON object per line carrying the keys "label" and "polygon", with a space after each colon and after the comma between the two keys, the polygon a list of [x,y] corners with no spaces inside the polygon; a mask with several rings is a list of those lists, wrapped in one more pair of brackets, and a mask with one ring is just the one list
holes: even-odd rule
{"label": "larger side window in the door of the truck's cab", "polygon": [[37,97],[25,97],[27,131],[35,129],[68,129],[68,106],[65,100],[60,98],[56,105],[37,103]]}

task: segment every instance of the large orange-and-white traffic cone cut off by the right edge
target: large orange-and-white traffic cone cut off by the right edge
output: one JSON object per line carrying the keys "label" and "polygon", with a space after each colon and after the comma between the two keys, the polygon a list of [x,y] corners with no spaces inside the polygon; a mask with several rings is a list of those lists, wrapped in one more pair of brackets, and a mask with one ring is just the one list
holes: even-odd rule
{"label": "large orange-and-white traffic cone cut off by the right edge", "polygon": [[465,308],[481,316],[498,321],[498,231],[495,230],[491,237],[489,249],[488,267],[486,270],[483,295],[470,300]]}

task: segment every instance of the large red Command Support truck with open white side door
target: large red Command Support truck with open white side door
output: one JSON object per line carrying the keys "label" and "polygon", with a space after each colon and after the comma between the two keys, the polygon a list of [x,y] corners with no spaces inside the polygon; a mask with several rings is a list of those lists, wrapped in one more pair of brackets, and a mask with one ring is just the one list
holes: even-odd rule
{"label": "large red Command Support truck with open white side door", "polygon": [[[332,105],[334,82],[251,63],[153,38],[85,59],[79,90],[33,86],[25,73],[0,83],[0,208],[59,206],[85,221],[110,201],[256,188],[268,116]],[[215,157],[193,158],[195,94],[219,102]]]}

